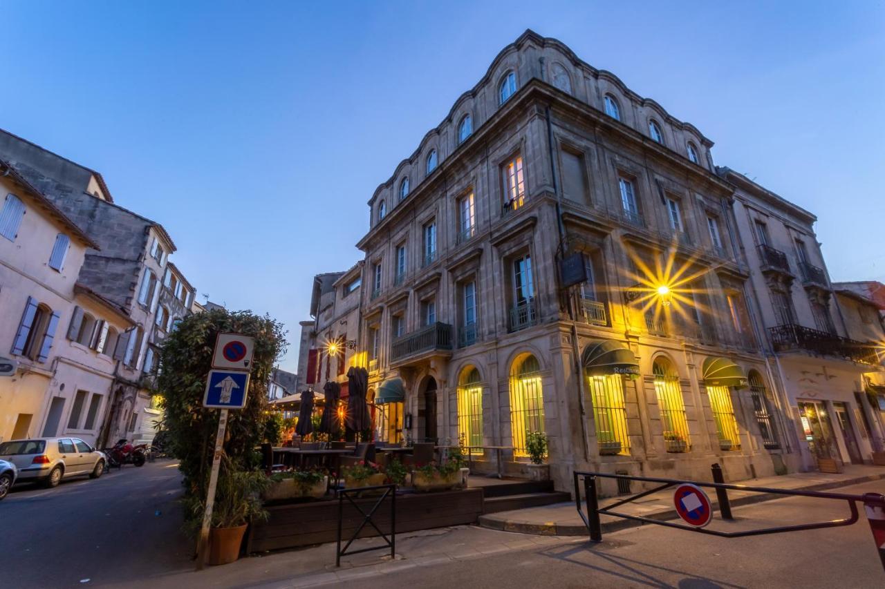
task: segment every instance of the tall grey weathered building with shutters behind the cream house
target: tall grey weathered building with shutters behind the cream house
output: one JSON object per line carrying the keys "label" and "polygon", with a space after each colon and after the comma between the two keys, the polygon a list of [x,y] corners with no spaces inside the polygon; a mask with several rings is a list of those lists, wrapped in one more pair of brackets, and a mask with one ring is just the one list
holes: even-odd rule
{"label": "tall grey weathered building with shutters behind the cream house", "polygon": [[[163,226],[115,203],[102,175],[14,134],[0,131],[0,157],[89,236],[78,285],[123,310],[129,325],[117,333],[113,384],[100,420],[98,445],[150,440],[151,374],[156,345],[193,306],[195,291],[169,264],[175,251]],[[84,311],[84,325],[89,323]],[[88,328],[88,327],[87,327]],[[146,418],[149,416],[150,418]]]}

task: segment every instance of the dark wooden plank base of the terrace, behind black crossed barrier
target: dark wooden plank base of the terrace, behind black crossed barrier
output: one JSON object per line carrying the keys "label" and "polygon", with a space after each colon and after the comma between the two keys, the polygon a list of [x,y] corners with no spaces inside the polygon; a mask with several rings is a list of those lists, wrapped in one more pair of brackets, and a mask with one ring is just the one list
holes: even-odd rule
{"label": "dark wooden plank base of the terrace, behind black crossed barrier", "polygon": [[[473,524],[482,514],[482,489],[410,493],[396,496],[396,533],[414,532],[449,525]],[[377,497],[355,499],[366,513]],[[270,515],[265,522],[253,522],[246,540],[247,552],[263,552],[278,548],[310,546],[334,542],[338,531],[338,501],[313,501],[276,505],[266,508]],[[342,538],[350,539],[363,522],[350,501],[344,500]],[[390,501],[385,499],[373,516],[375,524],[388,532]],[[377,536],[371,525],[360,532],[360,538]]]}

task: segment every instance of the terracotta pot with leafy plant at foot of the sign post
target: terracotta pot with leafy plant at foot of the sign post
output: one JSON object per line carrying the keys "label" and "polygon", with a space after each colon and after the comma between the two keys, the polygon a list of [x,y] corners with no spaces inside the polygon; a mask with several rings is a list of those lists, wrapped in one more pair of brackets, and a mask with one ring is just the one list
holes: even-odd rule
{"label": "terracotta pot with leafy plant at foot of the sign post", "polygon": [[[240,557],[249,521],[267,518],[260,494],[269,482],[260,470],[233,470],[226,465],[219,473],[209,530],[209,564],[227,564]],[[199,514],[205,509],[204,501],[194,501],[192,507]]]}

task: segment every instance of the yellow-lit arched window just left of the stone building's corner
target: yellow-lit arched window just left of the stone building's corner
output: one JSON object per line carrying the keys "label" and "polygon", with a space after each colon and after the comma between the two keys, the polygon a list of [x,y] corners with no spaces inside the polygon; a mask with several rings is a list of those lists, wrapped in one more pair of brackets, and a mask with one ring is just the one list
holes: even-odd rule
{"label": "yellow-lit arched window just left of the stone building's corner", "polygon": [[510,376],[510,415],[513,452],[525,456],[528,434],[544,432],[541,364],[531,354],[519,356],[513,362]]}

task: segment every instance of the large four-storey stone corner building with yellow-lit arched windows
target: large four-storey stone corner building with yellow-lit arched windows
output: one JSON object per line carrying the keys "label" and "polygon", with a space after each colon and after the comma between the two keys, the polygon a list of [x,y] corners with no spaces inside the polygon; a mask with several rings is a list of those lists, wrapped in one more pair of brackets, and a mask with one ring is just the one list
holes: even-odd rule
{"label": "large four-storey stone corner building with yellow-lit arched windows", "polygon": [[558,488],[574,469],[784,470],[711,147],[560,42],[505,48],[368,203],[381,438],[504,446],[517,472],[545,432]]}

